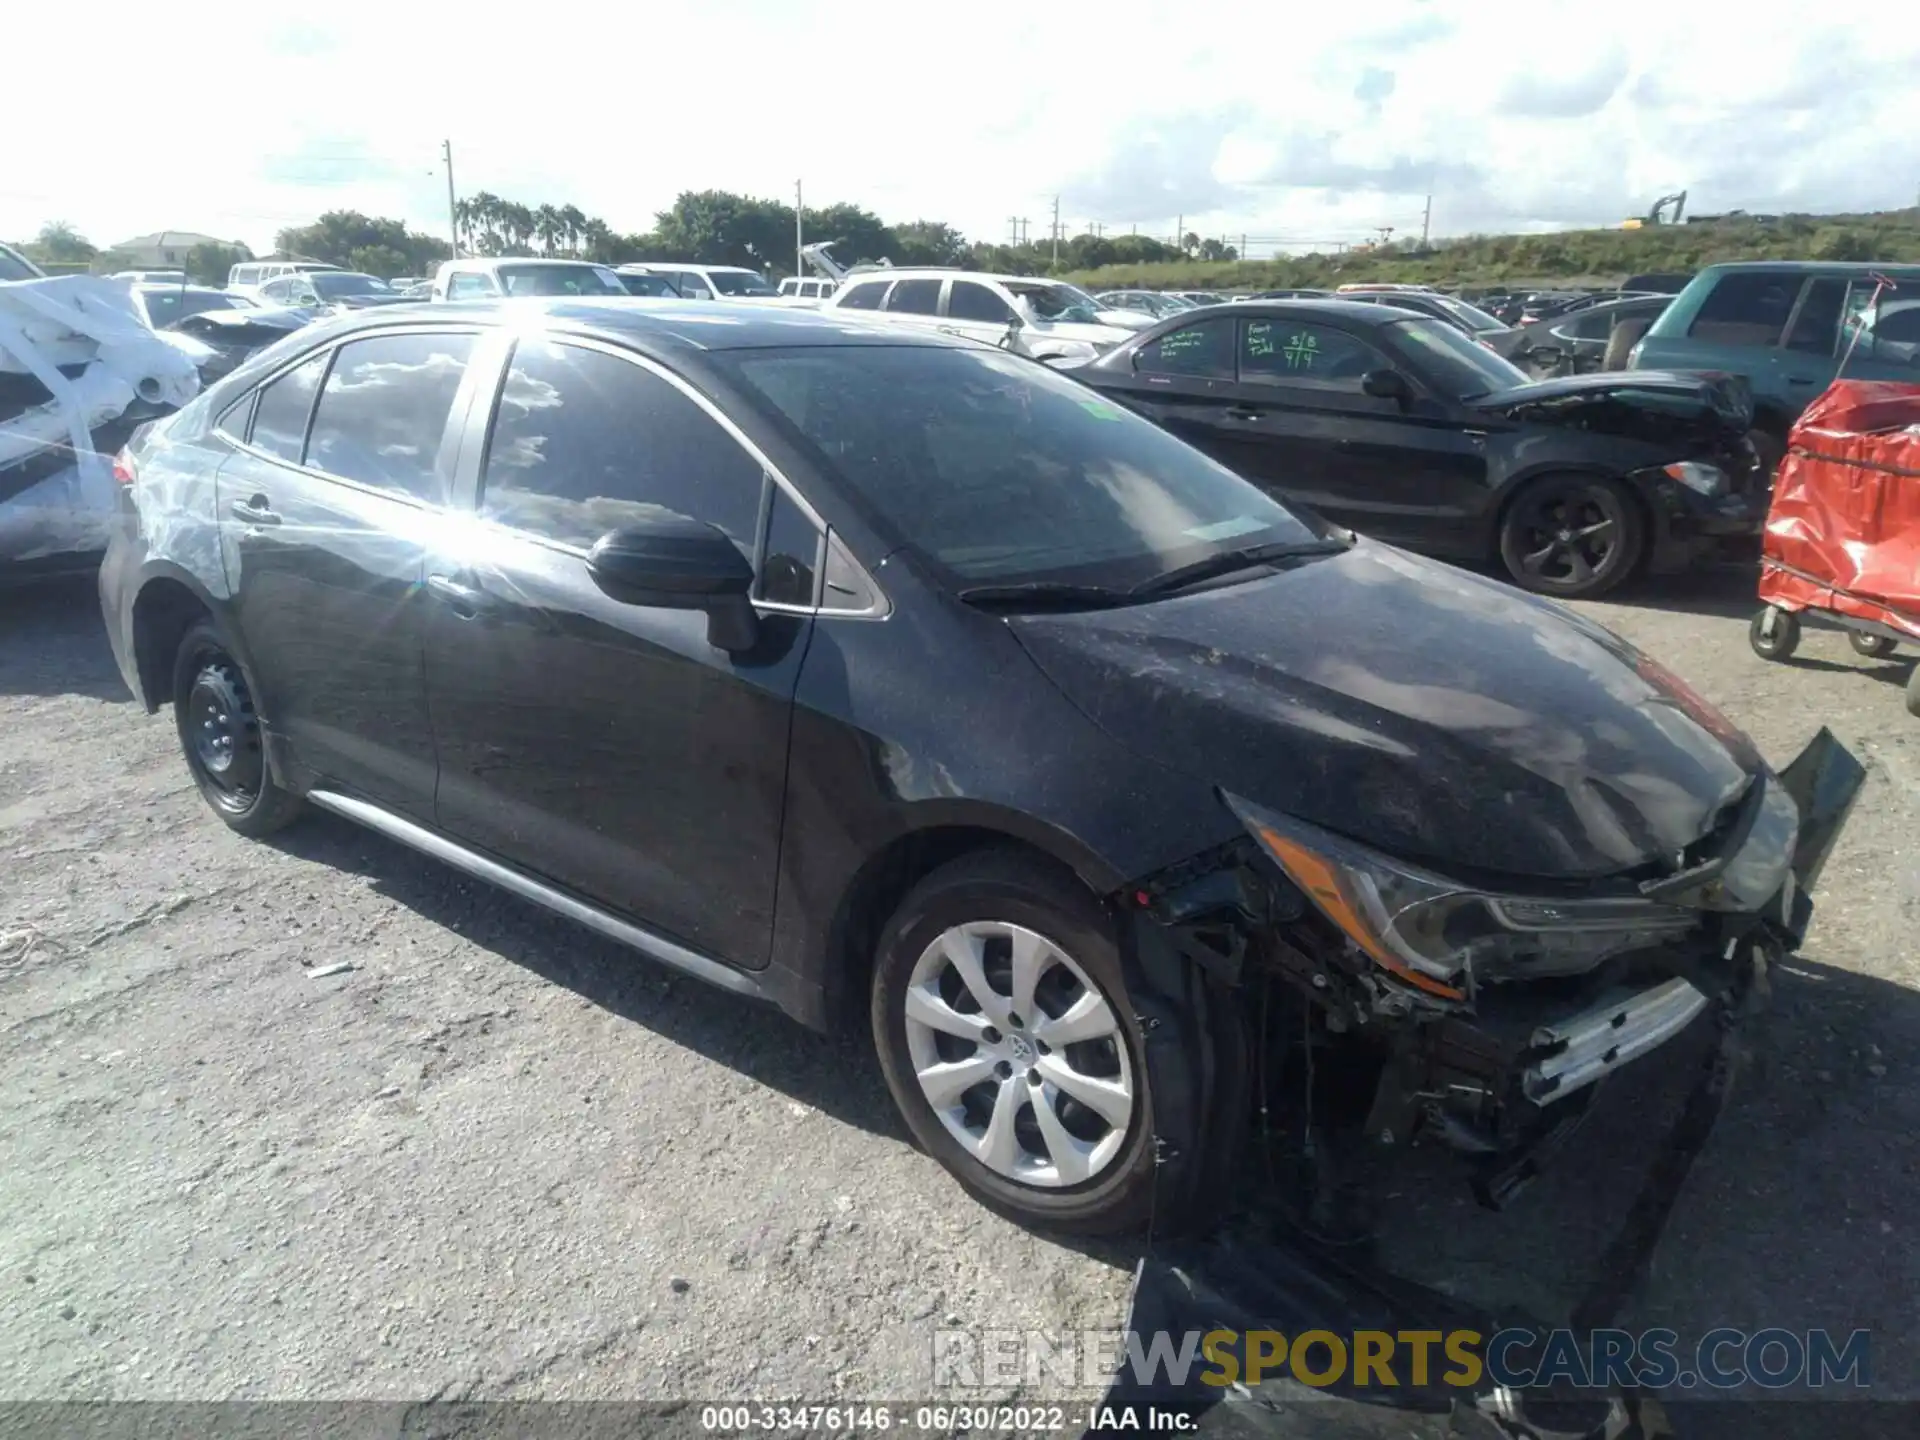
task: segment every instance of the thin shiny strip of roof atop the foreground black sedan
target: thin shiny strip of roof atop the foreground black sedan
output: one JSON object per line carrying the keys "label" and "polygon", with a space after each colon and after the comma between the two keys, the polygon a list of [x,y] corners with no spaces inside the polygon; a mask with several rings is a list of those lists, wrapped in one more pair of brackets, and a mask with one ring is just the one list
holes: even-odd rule
{"label": "thin shiny strip of roof atop the foreground black sedan", "polygon": [[712,300],[653,300],[647,296],[522,296],[516,300],[455,300],[436,305],[396,305],[355,311],[315,338],[328,340],[357,330],[399,324],[445,324],[453,317],[482,323],[513,323],[540,315],[549,324],[637,340],[668,349],[768,349],[776,346],[924,346],[939,349],[977,349],[972,340],[935,330],[906,328],[885,321],[849,319],[845,313],[787,309]]}

